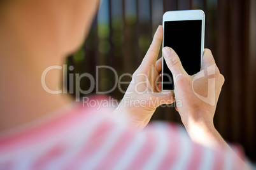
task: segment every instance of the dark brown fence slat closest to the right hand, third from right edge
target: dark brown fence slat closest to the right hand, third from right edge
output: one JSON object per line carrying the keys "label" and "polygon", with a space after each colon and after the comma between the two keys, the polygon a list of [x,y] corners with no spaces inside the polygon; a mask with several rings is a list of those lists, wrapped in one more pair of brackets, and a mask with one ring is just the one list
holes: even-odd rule
{"label": "dark brown fence slat closest to the right hand, third from right edge", "polygon": [[230,129],[227,129],[227,124],[231,124],[231,119],[229,119],[229,106],[231,106],[231,67],[229,62],[231,60],[229,51],[230,46],[230,20],[229,20],[229,0],[218,1],[217,8],[217,53],[215,55],[215,61],[221,72],[225,77],[225,84],[222,87],[222,93],[220,93],[220,98],[218,100],[217,111],[215,114],[216,128],[224,136],[224,138],[230,139],[231,133]]}

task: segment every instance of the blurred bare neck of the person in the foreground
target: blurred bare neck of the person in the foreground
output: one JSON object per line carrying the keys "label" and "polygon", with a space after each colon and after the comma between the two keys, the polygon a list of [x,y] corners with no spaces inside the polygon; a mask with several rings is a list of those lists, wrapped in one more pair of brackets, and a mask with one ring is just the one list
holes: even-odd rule
{"label": "blurred bare neck of the person in the foreground", "polygon": [[[10,36],[0,37],[0,131],[39,119],[71,102],[68,95],[52,95],[41,85],[43,70],[62,65],[64,57],[55,51],[34,48],[32,44],[30,48],[34,50],[25,50],[11,41]],[[46,86],[56,90],[60,75],[62,70],[50,70]]]}

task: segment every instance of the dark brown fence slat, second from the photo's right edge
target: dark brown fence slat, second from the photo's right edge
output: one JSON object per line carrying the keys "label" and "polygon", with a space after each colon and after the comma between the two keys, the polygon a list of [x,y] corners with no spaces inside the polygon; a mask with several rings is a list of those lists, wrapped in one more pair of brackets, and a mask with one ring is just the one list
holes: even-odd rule
{"label": "dark brown fence slat, second from the photo's right edge", "polygon": [[[241,1],[240,1],[241,2]],[[243,75],[245,75],[244,65],[247,56],[243,54],[245,52],[245,46],[243,41],[243,2],[239,3],[239,1],[231,2],[231,42],[232,42],[232,50],[231,50],[231,79],[232,79],[232,93],[231,93],[231,101],[232,101],[232,140],[239,141],[241,139],[241,129],[242,122],[244,121],[244,117],[241,114],[244,112],[243,110]]]}

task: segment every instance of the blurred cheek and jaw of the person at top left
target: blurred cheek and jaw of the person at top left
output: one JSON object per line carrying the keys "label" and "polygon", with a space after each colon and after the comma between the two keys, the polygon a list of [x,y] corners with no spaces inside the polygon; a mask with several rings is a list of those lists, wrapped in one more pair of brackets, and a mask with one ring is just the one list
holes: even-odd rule
{"label": "blurred cheek and jaw of the person at top left", "polygon": [[5,35],[15,34],[12,43],[27,51],[41,48],[66,56],[78,49],[89,32],[99,0],[2,0],[0,3],[0,26],[5,28]]}

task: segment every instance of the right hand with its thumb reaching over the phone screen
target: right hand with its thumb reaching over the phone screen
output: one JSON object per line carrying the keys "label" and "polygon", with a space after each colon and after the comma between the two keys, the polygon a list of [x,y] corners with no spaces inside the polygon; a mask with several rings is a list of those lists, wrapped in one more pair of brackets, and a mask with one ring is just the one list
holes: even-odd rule
{"label": "right hand with its thumb reaching over the phone screen", "polygon": [[[162,52],[174,77],[175,100],[180,101],[176,109],[192,140],[208,146],[226,145],[213,125],[224,76],[220,74],[210,49],[204,49],[201,71],[195,75],[185,72],[173,49],[165,47]],[[213,139],[216,136],[219,140]]]}

